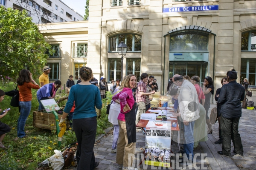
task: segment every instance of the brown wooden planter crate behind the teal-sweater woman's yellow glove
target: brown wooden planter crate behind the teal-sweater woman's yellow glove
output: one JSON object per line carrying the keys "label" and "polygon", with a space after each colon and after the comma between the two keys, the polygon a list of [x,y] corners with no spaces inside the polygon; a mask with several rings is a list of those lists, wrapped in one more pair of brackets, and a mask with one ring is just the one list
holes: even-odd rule
{"label": "brown wooden planter crate behind the teal-sweater woman's yellow glove", "polygon": [[[59,121],[62,115],[58,114]],[[70,127],[70,121],[66,119],[67,128]],[[41,129],[56,129],[55,116],[53,113],[44,113],[40,111],[33,112],[33,126]],[[60,127],[61,130],[61,127]]]}

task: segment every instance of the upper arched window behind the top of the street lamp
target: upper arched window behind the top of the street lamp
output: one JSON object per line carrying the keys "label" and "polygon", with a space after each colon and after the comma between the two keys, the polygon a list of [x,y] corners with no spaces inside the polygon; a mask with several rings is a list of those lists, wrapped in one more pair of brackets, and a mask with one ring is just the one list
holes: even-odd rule
{"label": "upper arched window behind the top of the street lamp", "polygon": [[110,37],[109,52],[117,52],[117,46],[123,41],[128,49],[127,51],[141,51],[141,36],[136,34],[118,34]]}

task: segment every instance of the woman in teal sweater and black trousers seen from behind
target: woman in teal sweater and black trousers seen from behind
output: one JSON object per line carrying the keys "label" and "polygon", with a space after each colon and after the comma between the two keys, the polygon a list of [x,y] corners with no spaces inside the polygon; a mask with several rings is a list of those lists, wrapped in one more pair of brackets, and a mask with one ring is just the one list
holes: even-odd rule
{"label": "woman in teal sweater and black trousers seen from behind", "polygon": [[75,101],[73,129],[80,153],[77,170],[93,170],[99,165],[99,162],[95,162],[93,153],[97,130],[97,114],[94,106],[101,109],[102,101],[99,88],[89,82],[93,78],[93,71],[88,67],[82,67],[79,75],[81,82],[71,87],[60,123],[65,121]]}

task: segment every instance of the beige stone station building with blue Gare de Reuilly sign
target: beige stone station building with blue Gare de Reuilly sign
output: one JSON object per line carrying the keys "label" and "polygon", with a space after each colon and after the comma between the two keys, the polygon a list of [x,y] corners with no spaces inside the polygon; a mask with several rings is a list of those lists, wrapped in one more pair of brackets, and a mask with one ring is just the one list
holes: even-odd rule
{"label": "beige stone station building with blue Gare de Reuilly sign", "polygon": [[[41,28],[60,47],[58,61],[48,59],[50,67],[58,63],[55,78],[78,79],[83,65],[108,82],[146,72],[165,94],[174,74],[198,75],[201,83],[210,76],[217,89],[234,68],[238,82],[249,79],[255,98],[255,0],[90,0],[89,8],[89,21]],[[121,41],[128,46],[122,75]]]}

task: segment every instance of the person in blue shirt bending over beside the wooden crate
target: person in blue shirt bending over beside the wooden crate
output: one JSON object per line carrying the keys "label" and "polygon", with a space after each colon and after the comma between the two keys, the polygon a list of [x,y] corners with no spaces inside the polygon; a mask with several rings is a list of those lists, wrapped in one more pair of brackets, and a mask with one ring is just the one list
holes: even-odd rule
{"label": "person in blue shirt bending over beside the wooden crate", "polygon": [[61,81],[57,80],[54,83],[46,84],[41,87],[37,93],[37,99],[39,102],[38,111],[44,110],[44,106],[40,100],[53,99],[55,97],[56,91],[61,87]]}

